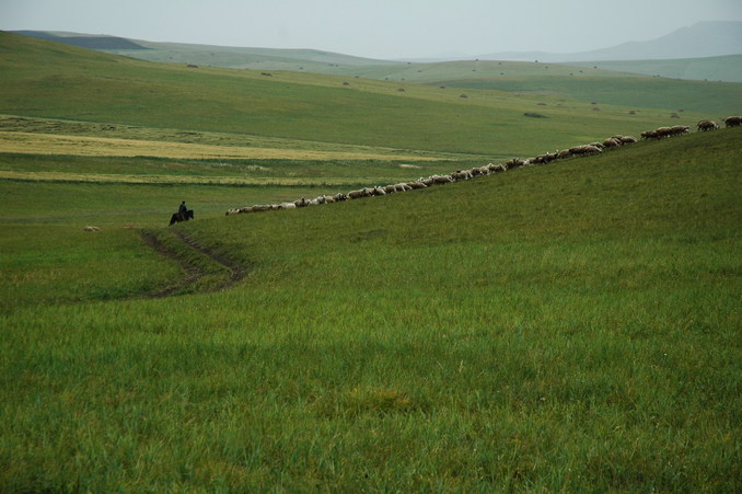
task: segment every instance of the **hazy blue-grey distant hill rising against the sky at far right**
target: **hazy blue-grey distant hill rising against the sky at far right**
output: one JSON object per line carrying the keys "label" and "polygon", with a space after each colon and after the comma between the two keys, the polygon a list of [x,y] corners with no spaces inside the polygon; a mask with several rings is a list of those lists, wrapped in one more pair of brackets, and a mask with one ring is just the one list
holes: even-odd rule
{"label": "hazy blue-grey distant hill rising against the sky at far right", "polygon": [[590,60],[663,60],[719,57],[742,54],[742,22],[706,21],[647,42],[628,42],[608,48],[576,54],[503,51],[479,55],[485,60],[538,60],[569,62]]}

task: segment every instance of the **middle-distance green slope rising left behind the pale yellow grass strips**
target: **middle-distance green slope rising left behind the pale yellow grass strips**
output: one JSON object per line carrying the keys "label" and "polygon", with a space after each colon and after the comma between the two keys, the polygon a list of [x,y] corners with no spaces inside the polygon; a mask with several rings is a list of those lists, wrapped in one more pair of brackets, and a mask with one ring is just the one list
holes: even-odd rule
{"label": "middle-distance green slope rising left behind the pale yellow grass strips", "polygon": [[[5,114],[492,158],[532,156],[616,133],[636,135],[668,124],[669,113],[629,115],[635,108],[602,104],[594,112],[586,101],[468,89],[464,99],[453,89],[370,79],[188,69],[5,33],[0,33],[0,56]],[[652,92],[662,94],[659,88]],[[704,101],[703,92],[693,101]],[[544,102],[548,106],[538,105]],[[547,118],[524,116],[534,111]],[[688,112],[673,123],[707,116]]]}

